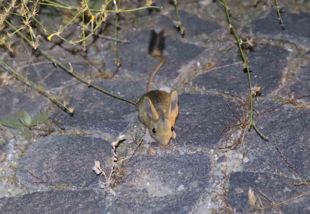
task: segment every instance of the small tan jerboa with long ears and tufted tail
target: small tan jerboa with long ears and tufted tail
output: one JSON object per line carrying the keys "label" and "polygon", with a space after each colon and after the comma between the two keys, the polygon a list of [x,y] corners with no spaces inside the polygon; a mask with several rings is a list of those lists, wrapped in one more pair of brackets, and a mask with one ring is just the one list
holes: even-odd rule
{"label": "small tan jerboa with long ears and tufted tail", "polygon": [[149,53],[160,59],[161,62],[153,70],[148,79],[146,94],[138,101],[139,118],[148,127],[150,135],[162,146],[169,144],[175,138],[175,120],[179,114],[178,95],[176,91],[171,94],[162,90],[151,91],[153,77],[158,69],[165,63],[166,57],[162,56],[164,48],[164,32],[152,31]]}

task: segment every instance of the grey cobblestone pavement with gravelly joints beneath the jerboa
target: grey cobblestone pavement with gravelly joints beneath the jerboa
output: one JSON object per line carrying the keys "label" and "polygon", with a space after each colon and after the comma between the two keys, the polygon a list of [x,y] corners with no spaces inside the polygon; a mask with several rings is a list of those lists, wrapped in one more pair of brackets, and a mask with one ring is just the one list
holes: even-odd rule
{"label": "grey cobblestone pavement with gravelly joints beneath the jerboa", "polygon": [[[113,48],[105,45],[113,41],[96,41],[82,55],[73,55],[66,44],[49,49],[92,83],[137,101],[158,63],[148,55],[151,29],[165,29],[167,61],[153,88],[178,91],[177,137],[168,148],[143,140],[135,151],[145,127],[134,105],[89,88],[45,58],[29,68],[27,58],[11,63],[75,110],[70,116],[18,81],[0,88],[0,121],[18,110],[30,116],[42,111],[54,129],[28,141],[0,126],[1,213],[261,213],[250,204],[249,188],[254,207],[265,213],[310,213],[310,194],[300,196],[310,191],[309,184],[295,185],[310,180],[309,2],[281,1],[285,30],[272,1],[228,2],[240,37],[255,38],[255,46],[244,52],[252,85],[261,87],[254,122],[268,142],[253,128],[245,128],[243,136],[249,82],[223,7],[211,0],[191,2],[179,1],[184,38],[174,27],[169,1],[156,1],[162,11],[136,11],[134,21],[121,28],[119,38],[130,42],[119,43],[122,65],[113,78],[104,78],[115,71]],[[116,149],[119,168],[111,196],[92,168],[94,160],[108,168],[111,142],[121,134],[126,140]],[[241,147],[223,149],[241,138]],[[122,159],[129,159],[125,168]]]}

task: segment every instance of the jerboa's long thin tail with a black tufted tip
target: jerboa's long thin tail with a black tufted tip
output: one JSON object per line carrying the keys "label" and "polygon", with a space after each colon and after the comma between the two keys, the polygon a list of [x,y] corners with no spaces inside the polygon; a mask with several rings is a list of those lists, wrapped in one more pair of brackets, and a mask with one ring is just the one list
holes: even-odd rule
{"label": "jerboa's long thin tail with a black tufted tip", "polygon": [[158,63],[156,68],[153,70],[151,76],[148,78],[148,85],[146,87],[146,92],[149,92],[151,90],[152,81],[153,81],[153,78],[154,78],[156,72],[166,62],[166,57],[162,55],[162,51],[164,50],[164,48],[165,48],[164,31],[161,31],[160,33],[157,34],[153,30],[151,33],[151,39],[150,39],[150,43],[148,46],[148,52],[154,58],[159,59],[161,61],[160,61],[160,63]]}

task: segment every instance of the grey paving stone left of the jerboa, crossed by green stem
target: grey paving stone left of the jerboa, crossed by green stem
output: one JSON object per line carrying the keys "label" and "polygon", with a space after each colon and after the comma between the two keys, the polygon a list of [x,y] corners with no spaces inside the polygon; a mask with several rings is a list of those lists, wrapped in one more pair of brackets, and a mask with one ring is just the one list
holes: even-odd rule
{"label": "grey paving stone left of the jerboa, crossed by green stem", "polygon": [[[117,96],[137,101],[146,89],[145,82],[97,81],[98,85]],[[74,116],[62,112],[60,120],[66,128],[107,132],[118,136],[138,120],[137,107],[113,98],[94,88],[83,87],[71,94],[70,106],[75,106]]]}

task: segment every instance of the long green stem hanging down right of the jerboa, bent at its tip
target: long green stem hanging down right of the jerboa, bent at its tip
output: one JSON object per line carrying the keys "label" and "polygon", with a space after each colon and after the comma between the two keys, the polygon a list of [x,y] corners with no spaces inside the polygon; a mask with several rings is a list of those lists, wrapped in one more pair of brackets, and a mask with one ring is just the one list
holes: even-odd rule
{"label": "long green stem hanging down right of the jerboa, bent at its tip", "polygon": [[244,53],[243,53],[243,50],[242,50],[242,47],[241,47],[241,44],[242,42],[240,41],[239,39],[239,36],[238,36],[238,33],[236,31],[236,29],[234,28],[234,26],[232,25],[232,21],[230,20],[230,15],[229,15],[229,11],[228,11],[228,7],[227,7],[227,4],[226,4],[226,0],[223,0],[223,2],[221,0],[218,0],[225,8],[225,12],[226,12],[226,16],[227,16],[227,19],[228,19],[228,23],[229,23],[229,27],[232,29],[232,32],[238,42],[238,46],[239,46],[239,50],[240,50],[240,54],[241,54],[241,57],[242,57],[242,61],[244,63],[244,66],[246,68],[246,72],[248,74],[248,79],[249,79],[249,86],[250,86],[250,100],[251,100],[251,117],[250,117],[250,124],[252,125],[252,127],[255,129],[255,131],[264,139],[264,140],[267,140],[268,137],[266,137],[265,135],[263,135],[263,133],[261,133],[259,131],[259,129],[256,127],[255,123],[253,122],[253,94],[252,94],[252,84],[251,84],[251,76],[250,76],[250,70],[249,70],[249,66],[248,66],[248,63],[246,61],[246,58],[244,56]]}

